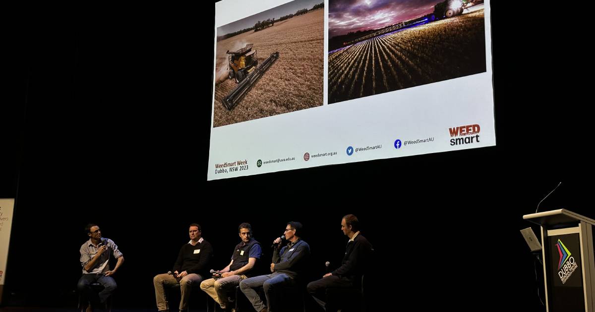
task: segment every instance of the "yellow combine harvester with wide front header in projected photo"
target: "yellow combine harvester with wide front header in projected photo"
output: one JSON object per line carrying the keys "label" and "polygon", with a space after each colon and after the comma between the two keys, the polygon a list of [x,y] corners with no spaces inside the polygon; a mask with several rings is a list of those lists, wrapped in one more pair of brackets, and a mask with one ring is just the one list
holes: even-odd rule
{"label": "yellow combine harvester with wide front header in projected photo", "polygon": [[279,58],[279,52],[273,52],[262,64],[258,65],[256,50],[252,51],[252,46],[252,43],[250,43],[236,52],[227,51],[227,54],[230,55],[228,57],[228,77],[230,79],[235,78],[237,83],[237,86],[223,98],[223,105],[230,111],[236,107],[242,97],[262,77],[262,74]]}

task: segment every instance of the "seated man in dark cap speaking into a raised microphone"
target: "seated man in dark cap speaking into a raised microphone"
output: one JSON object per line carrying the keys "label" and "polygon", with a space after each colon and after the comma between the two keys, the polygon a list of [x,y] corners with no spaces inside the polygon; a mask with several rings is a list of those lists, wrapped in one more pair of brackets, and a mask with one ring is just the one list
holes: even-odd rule
{"label": "seated man in dark cap speaking into a raised microphone", "polygon": [[[269,275],[256,276],[240,282],[240,289],[252,302],[257,312],[281,311],[279,296],[284,286],[296,284],[300,273],[306,269],[306,259],[310,255],[310,246],[299,238],[302,233],[302,223],[287,222],[284,237],[289,241],[287,246],[279,250],[281,238],[273,241],[276,245],[273,251],[273,263]],[[264,304],[256,288],[262,286],[267,304]]]}

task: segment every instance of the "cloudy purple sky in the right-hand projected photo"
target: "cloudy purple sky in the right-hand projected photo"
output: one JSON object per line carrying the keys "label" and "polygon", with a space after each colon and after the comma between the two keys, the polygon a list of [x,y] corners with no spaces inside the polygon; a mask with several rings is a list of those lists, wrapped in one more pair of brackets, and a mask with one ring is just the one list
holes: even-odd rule
{"label": "cloudy purple sky in the right-hand projected photo", "polygon": [[328,36],[378,29],[434,11],[440,0],[329,0]]}

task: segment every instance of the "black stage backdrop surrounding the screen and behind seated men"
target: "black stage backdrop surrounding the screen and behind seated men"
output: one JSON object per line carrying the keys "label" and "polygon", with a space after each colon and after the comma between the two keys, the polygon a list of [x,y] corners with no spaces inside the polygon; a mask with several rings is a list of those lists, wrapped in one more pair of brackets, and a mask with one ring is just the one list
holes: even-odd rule
{"label": "black stage backdrop surrounding the screen and behind seated men", "polygon": [[240,222],[270,254],[300,221],[320,276],[354,213],[377,250],[378,307],[544,310],[518,231],[560,181],[540,210],[595,218],[589,90],[573,62],[587,58],[573,31],[494,2],[497,146],[210,182],[213,4],[27,11],[2,105],[0,197],[17,197],[5,304],[73,307],[87,222],[126,258],[117,304],[149,308],[191,222],[221,269]]}

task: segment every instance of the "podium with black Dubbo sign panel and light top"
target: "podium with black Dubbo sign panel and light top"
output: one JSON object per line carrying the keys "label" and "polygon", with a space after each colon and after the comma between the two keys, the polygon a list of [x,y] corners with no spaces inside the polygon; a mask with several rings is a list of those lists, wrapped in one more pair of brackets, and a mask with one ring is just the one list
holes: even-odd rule
{"label": "podium with black Dubbo sign panel and light top", "polygon": [[595,310],[595,220],[565,209],[524,215],[541,225],[546,311]]}

